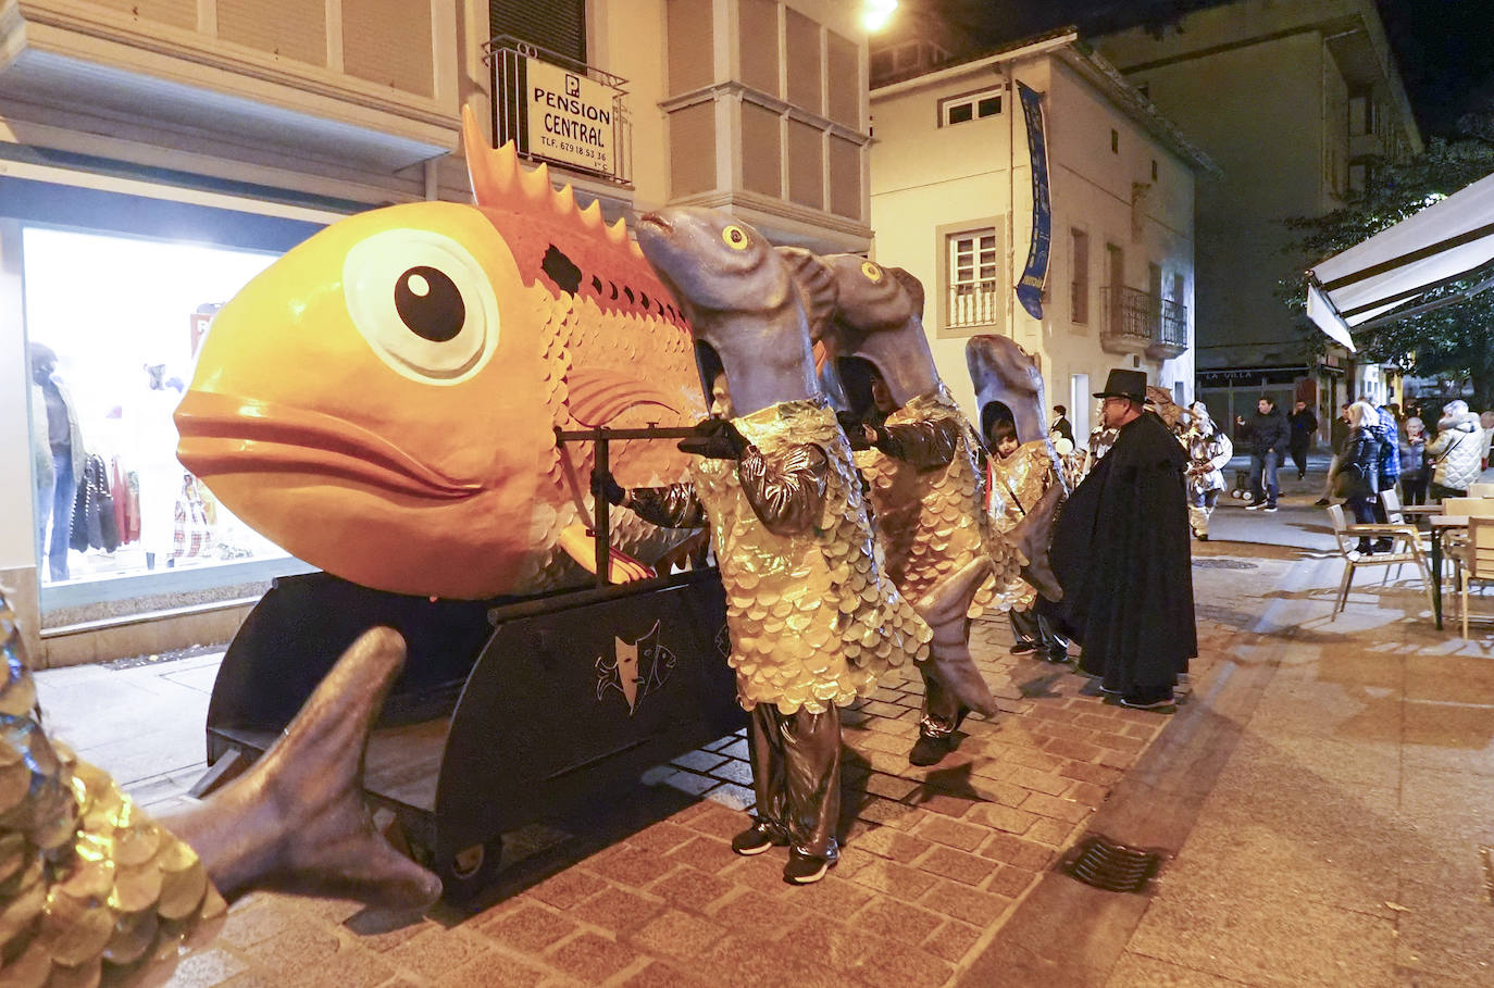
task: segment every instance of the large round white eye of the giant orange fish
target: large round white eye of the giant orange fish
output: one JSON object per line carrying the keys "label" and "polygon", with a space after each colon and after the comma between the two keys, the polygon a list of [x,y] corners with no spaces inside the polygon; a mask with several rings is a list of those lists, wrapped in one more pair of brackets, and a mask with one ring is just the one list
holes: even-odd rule
{"label": "large round white eye of the giant orange fish", "polygon": [[498,298],[472,254],[432,230],[385,230],[342,263],[348,315],[396,373],[423,384],[466,381],[498,349]]}

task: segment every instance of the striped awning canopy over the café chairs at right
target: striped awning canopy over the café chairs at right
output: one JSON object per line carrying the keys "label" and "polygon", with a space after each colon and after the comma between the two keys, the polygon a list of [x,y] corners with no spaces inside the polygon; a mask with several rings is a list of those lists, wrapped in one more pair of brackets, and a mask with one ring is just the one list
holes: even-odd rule
{"label": "striped awning canopy over the caf\u00e9 chairs at right", "polygon": [[[1430,312],[1494,285],[1494,175],[1433,203],[1307,273],[1307,316],[1354,349],[1352,327]],[[1461,291],[1430,298],[1454,282]]]}

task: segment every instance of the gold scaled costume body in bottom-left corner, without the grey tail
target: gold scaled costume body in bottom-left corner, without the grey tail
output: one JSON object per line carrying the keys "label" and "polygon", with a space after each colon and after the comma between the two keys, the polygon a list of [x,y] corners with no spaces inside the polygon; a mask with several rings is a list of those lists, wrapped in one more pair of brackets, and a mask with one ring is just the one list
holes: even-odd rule
{"label": "gold scaled costume body in bottom-left corner, without the grey tail", "polygon": [[0,984],[164,982],[227,906],[197,854],[42,731],[0,597]]}

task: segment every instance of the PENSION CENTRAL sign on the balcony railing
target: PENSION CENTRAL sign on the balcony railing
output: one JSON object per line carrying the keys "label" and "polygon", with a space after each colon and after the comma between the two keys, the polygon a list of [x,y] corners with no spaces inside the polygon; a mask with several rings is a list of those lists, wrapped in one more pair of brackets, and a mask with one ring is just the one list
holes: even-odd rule
{"label": "PENSION CENTRAL sign on the balcony railing", "polygon": [[617,94],[559,66],[524,58],[521,151],[557,164],[614,175]]}

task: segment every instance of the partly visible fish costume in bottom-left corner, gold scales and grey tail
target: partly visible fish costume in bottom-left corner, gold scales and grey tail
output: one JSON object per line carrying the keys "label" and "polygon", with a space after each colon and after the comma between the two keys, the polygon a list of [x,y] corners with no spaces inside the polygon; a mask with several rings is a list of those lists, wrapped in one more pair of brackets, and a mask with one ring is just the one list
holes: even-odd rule
{"label": "partly visible fish costume in bottom-left corner, gold scales and grey tail", "polygon": [[363,803],[368,731],[403,657],[394,631],[369,631],[245,775],[152,819],[46,733],[0,594],[0,985],[163,984],[255,888],[433,903],[441,881]]}

